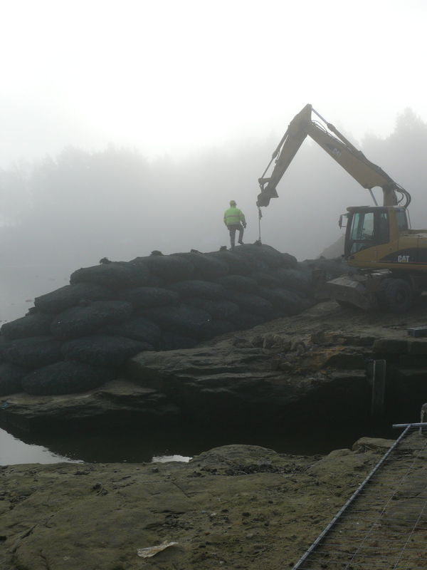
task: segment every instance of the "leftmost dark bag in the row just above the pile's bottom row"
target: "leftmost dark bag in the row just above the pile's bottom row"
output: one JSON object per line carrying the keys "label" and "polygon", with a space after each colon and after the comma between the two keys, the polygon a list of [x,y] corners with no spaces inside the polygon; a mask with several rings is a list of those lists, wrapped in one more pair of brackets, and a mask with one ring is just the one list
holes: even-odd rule
{"label": "leftmost dark bag in the row just above the pile's bottom row", "polygon": [[9,341],[2,348],[6,362],[23,368],[40,368],[62,358],[60,342],[52,336],[28,336]]}

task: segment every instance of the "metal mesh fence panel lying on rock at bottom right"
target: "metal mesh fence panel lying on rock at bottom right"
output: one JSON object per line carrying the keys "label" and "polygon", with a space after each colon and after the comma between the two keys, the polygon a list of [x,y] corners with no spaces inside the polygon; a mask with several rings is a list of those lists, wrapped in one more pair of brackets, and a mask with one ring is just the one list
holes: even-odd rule
{"label": "metal mesh fence panel lying on rock at bottom right", "polygon": [[427,423],[394,445],[292,570],[427,570]]}

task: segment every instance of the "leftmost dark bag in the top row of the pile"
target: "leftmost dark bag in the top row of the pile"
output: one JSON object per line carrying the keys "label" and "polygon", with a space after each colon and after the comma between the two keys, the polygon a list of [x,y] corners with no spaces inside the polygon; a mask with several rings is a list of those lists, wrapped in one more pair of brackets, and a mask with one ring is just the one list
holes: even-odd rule
{"label": "leftmost dark bag in the top row of the pile", "polygon": [[83,267],[74,271],[70,283],[94,283],[107,289],[124,289],[125,287],[144,286],[149,284],[150,272],[143,263],[132,261],[112,261],[92,267]]}

